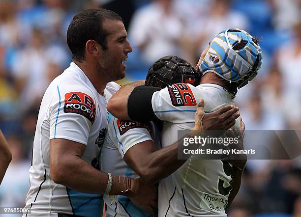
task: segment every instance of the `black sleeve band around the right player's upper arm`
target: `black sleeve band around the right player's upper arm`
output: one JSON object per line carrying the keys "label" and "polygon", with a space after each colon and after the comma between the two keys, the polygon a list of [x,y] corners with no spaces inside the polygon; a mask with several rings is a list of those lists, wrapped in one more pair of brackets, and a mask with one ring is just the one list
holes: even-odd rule
{"label": "black sleeve band around the right player's upper arm", "polygon": [[161,90],[159,87],[137,86],[127,100],[127,112],[131,120],[152,121],[157,117],[151,106],[152,94]]}

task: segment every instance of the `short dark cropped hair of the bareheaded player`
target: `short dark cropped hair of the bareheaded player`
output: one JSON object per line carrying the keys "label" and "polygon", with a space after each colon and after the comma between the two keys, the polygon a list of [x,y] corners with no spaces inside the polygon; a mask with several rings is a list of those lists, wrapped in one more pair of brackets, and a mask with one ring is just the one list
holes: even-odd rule
{"label": "short dark cropped hair of the bareheaded player", "polygon": [[85,59],[86,43],[95,40],[103,50],[107,50],[107,29],[103,28],[105,20],[122,21],[115,12],[101,8],[92,8],[76,14],[67,30],[67,44],[72,53],[72,59]]}

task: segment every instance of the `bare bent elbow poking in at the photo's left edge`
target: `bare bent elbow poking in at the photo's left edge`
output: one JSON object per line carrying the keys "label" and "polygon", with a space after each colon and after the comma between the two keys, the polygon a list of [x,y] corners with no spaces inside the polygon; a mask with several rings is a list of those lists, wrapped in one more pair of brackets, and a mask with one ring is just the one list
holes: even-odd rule
{"label": "bare bent elbow poking in at the photo's left edge", "polygon": [[11,162],[12,155],[9,150],[8,144],[0,131],[0,184],[5,175],[6,169]]}

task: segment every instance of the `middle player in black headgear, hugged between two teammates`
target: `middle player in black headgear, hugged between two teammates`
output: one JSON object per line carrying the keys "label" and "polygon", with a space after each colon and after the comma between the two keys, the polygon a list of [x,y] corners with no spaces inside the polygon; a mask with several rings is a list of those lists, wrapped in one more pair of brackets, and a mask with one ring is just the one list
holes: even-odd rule
{"label": "middle player in black headgear, hugged between two teammates", "polygon": [[[160,67],[161,64],[165,65],[169,62],[169,69],[173,72],[177,71],[179,75],[182,75],[180,81],[184,82],[189,79],[191,81],[198,81],[198,73],[188,62],[180,57],[171,59],[168,57],[168,60],[170,61],[165,61],[165,59],[158,60],[153,64],[150,71],[162,70]],[[168,69],[166,68],[166,70]],[[176,76],[172,74],[169,82],[171,84],[174,83],[174,79],[176,79]],[[208,122],[208,118],[212,118],[214,113],[222,113],[226,108],[221,108],[211,114],[204,114],[204,101],[202,100],[198,108],[199,114],[196,115],[196,121],[198,121],[198,116],[204,116],[202,118],[202,126],[205,130],[216,129],[214,127],[221,129],[223,126],[223,130],[227,130],[235,124],[235,119],[240,115],[239,112],[237,112],[237,108],[233,107],[231,109],[231,107],[229,107],[229,111],[223,114],[225,117],[218,122],[219,125],[214,123],[212,126],[212,124]],[[230,123],[230,125],[224,125],[224,123]],[[126,121],[110,115],[105,142],[101,149],[101,171],[132,178],[141,177],[147,183],[153,184],[178,169],[185,162],[178,160],[177,150],[179,142],[161,149],[161,125],[162,123],[159,121]],[[198,124],[196,124],[196,126],[198,126]],[[194,128],[194,130],[197,130],[197,128]],[[182,141],[180,141],[180,144],[181,143]],[[114,200],[111,200],[109,195],[104,195],[104,200],[108,206],[106,210],[108,217],[151,216],[150,213],[134,205],[126,196],[120,195],[113,198]]]}

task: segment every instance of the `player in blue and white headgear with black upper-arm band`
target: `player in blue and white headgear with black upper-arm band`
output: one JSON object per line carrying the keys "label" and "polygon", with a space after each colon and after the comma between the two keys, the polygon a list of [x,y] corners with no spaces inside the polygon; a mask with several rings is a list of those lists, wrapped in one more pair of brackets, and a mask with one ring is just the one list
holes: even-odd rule
{"label": "player in blue and white headgear with black upper-arm band", "polygon": [[[161,141],[166,147],[177,138],[178,130],[192,128],[193,111],[200,98],[205,100],[207,112],[223,105],[234,105],[233,98],[238,88],[254,79],[261,63],[258,41],[241,29],[227,29],[213,38],[200,57],[195,68],[203,74],[200,85],[174,84],[158,91],[146,86],[135,87],[133,83],[120,89],[107,109],[121,119],[146,121],[157,117],[166,121]],[[133,106],[137,102],[142,104]],[[121,108],[126,109],[122,111]],[[239,120],[235,128],[240,129]],[[229,207],[240,188],[245,161],[242,162],[233,165],[192,156],[160,182],[159,216],[227,216],[225,208]]]}

